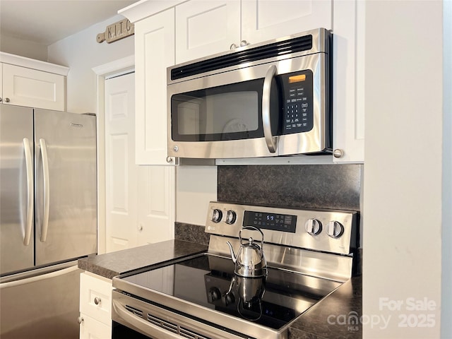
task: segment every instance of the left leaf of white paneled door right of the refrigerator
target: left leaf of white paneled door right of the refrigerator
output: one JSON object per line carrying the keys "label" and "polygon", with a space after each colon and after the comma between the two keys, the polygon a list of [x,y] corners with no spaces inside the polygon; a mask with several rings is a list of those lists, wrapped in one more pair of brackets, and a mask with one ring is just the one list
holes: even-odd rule
{"label": "left leaf of white paneled door right of the refrigerator", "polygon": [[[136,246],[135,74],[105,80],[105,210],[107,252]],[[133,227],[133,228],[132,228]]]}

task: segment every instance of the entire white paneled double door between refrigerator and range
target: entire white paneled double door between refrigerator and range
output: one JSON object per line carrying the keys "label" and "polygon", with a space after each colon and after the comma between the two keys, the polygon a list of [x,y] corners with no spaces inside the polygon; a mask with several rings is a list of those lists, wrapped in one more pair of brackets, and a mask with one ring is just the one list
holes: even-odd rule
{"label": "entire white paneled double door between refrigerator and range", "polygon": [[175,168],[135,162],[134,73],[105,80],[106,251],[174,239]]}

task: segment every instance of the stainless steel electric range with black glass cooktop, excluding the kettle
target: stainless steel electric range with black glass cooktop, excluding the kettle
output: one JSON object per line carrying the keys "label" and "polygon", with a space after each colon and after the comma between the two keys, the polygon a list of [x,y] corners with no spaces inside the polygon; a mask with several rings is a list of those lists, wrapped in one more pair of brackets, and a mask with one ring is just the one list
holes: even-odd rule
{"label": "stainless steel electric range with black glass cooktop, excluding the kettle", "polygon": [[[208,252],[113,278],[113,339],[287,338],[290,323],[352,276],[355,212],[211,202],[207,214]],[[266,275],[234,273],[228,241],[236,253],[258,244]]]}

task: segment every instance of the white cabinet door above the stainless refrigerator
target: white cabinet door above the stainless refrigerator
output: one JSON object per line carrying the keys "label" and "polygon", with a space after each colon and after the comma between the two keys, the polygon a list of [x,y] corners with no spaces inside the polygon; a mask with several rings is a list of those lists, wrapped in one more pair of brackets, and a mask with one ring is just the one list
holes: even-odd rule
{"label": "white cabinet door above the stainless refrigerator", "polygon": [[65,78],[54,73],[3,64],[3,102],[64,111]]}

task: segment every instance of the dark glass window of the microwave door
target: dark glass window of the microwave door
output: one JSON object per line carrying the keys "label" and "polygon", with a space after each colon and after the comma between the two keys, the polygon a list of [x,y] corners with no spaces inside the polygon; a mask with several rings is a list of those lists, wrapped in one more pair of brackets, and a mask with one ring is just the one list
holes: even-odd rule
{"label": "dark glass window of the microwave door", "polygon": [[172,140],[222,141],[262,135],[263,79],[173,95]]}

